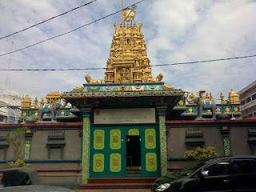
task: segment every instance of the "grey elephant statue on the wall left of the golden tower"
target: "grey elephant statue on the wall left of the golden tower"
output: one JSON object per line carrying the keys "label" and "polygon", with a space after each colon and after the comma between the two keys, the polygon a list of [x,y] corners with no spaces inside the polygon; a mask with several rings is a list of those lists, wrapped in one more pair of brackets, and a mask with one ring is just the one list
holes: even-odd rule
{"label": "grey elephant statue on the wall left of the golden tower", "polygon": [[46,104],[38,108],[38,122],[42,122],[43,114],[51,114],[50,122],[57,122],[54,110],[58,110],[62,107],[59,102],[53,102],[52,104]]}

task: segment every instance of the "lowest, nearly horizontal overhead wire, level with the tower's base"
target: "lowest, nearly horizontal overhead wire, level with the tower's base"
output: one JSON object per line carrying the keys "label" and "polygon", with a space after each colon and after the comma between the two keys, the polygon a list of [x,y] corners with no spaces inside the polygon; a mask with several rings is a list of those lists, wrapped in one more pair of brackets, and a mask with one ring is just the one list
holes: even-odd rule
{"label": "lowest, nearly horizontal overhead wire, level with the tower's base", "polygon": [[[234,58],[217,58],[217,59],[211,59],[211,60],[202,60],[197,62],[174,62],[174,63],[167,63],[167,64],[158,64],[153,66],[177,66],[177,65],[188,65],[188,64],[194,64],[194,63],[202,63],[202,62],[221,62],[226,60],[233,60],[233,59],[241,59],[241,58],[254,58],[256,57],[256,54],[254,55],[247,55],[247,56],[240,56],[240,57],[234,57]],[[152,67],[152,66],[151,66]],[[47,70],[106,70],[106,69],[112,69],[108,67],[99,67],[99,68],[70,68],[70,69],[16,69],[16,71],[24,71],[24,70],[37,70],[37,71],[47,71]],[[1,70],[8,70],[8,69],[0,69]],[[15,69],[13,69],[15,70]]]}

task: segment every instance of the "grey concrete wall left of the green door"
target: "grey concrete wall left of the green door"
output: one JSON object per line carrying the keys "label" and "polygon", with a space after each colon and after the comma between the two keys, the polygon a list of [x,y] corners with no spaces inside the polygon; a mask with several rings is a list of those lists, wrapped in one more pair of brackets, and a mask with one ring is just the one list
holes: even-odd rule
{"label": "grey concrete wall left of the green door", "polygon": [[[82,137],[79,135],[82,126],[40,126],[29,127],[33,131],[30,144],[30,159],[29,163],[32,168],[40,169],[59,169],[59,170],[40,170],[38,174],[42,175],[42,182],[50,185],[78,187],[81,182],[81,158],[82,158]],[[15,128],[14,128],[15,129]],[[12,133],[14,129],[10,127],[3,128],[2,134]],[[61,159],[61,148],[51,148],[50,159],[48,159],[48,150],[46,143],[48,135],[52,131],[64,131],[65,146],[63,148],[63,158]],[[22,147],[22,155],[24,156],[25,146]],[[0,170],[10,168],[3,159],[4,150],[0,149]],[[54,161],[54,160],[56,161]],[[6,160],[14,160],[14,152],[11,146],[8,147]],[[78,170],[65,170],[66,168],[78,168]],[[57,176],[56,174],[59,174]],[[74,174],[74,175],[71,175]],[[52,176],[50,176],[52,175]],[[62,176],[63,175],[63,176]]]}

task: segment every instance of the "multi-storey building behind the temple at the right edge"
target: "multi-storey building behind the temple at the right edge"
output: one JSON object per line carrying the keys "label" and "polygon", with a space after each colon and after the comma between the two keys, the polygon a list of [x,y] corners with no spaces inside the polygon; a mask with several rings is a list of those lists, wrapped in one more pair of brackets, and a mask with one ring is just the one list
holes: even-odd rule
{"label": "multi-storey building behind the temple at the right edge", "polygon": [[256,81],[238,92],[242,118],[256,118]]}

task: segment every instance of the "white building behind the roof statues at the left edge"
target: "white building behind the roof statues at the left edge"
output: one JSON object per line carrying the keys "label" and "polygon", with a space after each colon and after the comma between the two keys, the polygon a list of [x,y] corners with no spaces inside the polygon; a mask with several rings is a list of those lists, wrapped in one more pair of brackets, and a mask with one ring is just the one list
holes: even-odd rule
{"label": "white building behind the roof statues at the left edge", "polygon": [[0,124],[19,123],[22,97],[18,95],[0,95]]}

